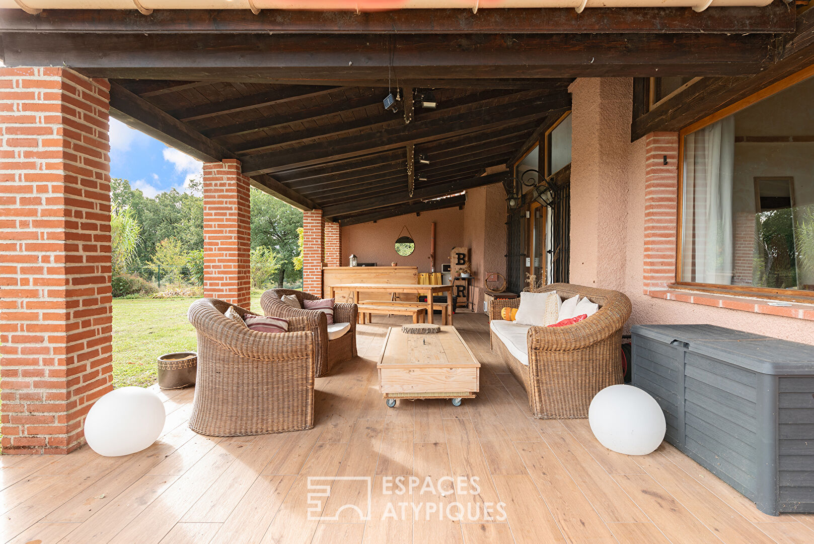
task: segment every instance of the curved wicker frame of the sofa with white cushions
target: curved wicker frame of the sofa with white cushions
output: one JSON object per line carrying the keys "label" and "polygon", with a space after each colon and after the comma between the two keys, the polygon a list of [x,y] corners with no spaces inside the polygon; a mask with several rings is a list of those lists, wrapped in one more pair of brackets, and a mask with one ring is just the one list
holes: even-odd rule
{"label": "curved wicker frame of the sofa with white cushions", "polygon": [[[586,418],[594,395],[623,382],[619,349],[622,327],[630,317],[630,300],[617,291],[571,283],[553,283],[539,291],[556,291],[563,300],[587,296],[599,305],[599,311],[575,325],[528,329],[528,366],[512,356],[490,327],[492,350],[501,354],[509,371],[523,384],[534,417]],[[501,319],[501,309],[519,305],[519,298],[492,301],[489,318]]]}

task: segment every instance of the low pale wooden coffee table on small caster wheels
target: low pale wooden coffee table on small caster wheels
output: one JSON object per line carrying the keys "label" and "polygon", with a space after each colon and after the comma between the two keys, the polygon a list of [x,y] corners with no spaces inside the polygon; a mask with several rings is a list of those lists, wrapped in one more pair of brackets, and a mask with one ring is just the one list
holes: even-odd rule
{"label": "low pale wooden coffee table on small caster wheels", "polygon": [[379,390],[387,406],[396,399],[462,398],[479,391],[480,363],[455,327],[437,334],[405,334],[390,327],[379,356]]}

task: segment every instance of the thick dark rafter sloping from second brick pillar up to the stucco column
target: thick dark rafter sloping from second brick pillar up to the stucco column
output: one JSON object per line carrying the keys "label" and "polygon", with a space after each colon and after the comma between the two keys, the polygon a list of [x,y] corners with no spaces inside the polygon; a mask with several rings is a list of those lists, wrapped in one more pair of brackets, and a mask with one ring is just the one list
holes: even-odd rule
{"label": "thick dark rafter sloping from second brick pillar up to the stucco column", "polygon": [[487,107],[475,113],[465,112],[431,121],[414,121],[396,129],[379,130],[326,143],[306,144],[287,153],[248,156],[243,166],[247,175],[274,173],[278,170],[403,147],[407,143],[422,143],[470,132],[500,129],[510,121],[518,124],[545,117],[552,110],[566,107],[568,105],[566,102],[570,103],[570,100],[543,97],[530,99],[522,104],[509,103]]}

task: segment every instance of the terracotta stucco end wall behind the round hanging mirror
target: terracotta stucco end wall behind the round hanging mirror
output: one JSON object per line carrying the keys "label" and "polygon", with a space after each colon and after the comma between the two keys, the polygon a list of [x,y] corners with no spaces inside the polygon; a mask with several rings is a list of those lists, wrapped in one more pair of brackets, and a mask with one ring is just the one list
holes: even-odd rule
{"label": "terracotta stucco end wall behind the round hanging mirror", "polygon": [[[469,203],[467,202],[466,206]],[[430,271],[430,230],[435,222],[435,270],[441,271],[441,263],[449,262],[449,251],[463,245],[464,212],[447,208],[380,219],[378,222],[361,223],[342,227],[342,265],[348,265],[348,257],[355,254],[359,262],[376,262],[379,266],[396,261],[401,266],[418,266],[419,272]],[[396,253],[393,244],[402,227],[407,226],[415,240],[415,251],[408,257]],[[404,233],[407,234],[406,232]]]}

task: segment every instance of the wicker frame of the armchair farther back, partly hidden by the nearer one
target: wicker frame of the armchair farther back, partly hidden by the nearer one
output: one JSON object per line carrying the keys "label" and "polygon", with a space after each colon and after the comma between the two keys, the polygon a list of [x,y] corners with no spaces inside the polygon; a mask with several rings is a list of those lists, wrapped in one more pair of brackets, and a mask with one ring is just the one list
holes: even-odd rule
{"label": "wicker frame of the armchair farther back, partly hidden by the nearer one", "polygon": [[266,315],[277,318],[308,318],[317,353],[317,377],[324,376],[337,363],[357,356],[356,326],[358,307],[355,304],[335,304],[334,322],[350,323],[351,329],[335,340],[328,340],[328,322],[324,312],[316,309],[297,309],[285,304],[280,297],[295,295],[300,301],[318,301],[319,297],[294,289],[269,289],[260,297],[260,307]]}

